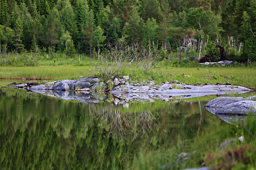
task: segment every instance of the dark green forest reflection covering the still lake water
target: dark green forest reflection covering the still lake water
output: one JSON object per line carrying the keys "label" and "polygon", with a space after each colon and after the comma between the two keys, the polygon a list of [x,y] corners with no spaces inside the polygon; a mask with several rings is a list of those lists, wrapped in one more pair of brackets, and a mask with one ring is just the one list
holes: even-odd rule
{"label": "dark green forest reflection covering the still lake water", "polygon": [[[139,150],[190,140],[217,121],[198,103],[84,104],[0,89],[3,169],[123,169]],[[201,104],[203,105],[203,104]]]}

